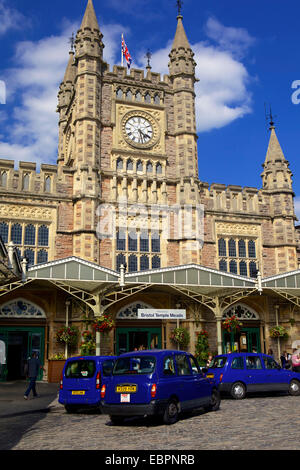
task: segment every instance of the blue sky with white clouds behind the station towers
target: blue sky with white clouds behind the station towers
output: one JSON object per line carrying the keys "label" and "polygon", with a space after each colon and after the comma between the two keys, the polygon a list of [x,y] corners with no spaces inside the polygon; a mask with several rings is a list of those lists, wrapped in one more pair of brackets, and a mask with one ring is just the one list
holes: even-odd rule
{"label": "blue sky with white clouds behind the station towers", "polygon": [[[123,32],[143,68],[168,71],[175,0],[93,0],[105,59],[120,63]],[[294,174],[300,218],[299,15],[296,0],[184,0],[183,22],[197,62],[199,177],[261,187],[271,104],[276,132]],[[56,163],[57,92],[87,0],[0,0],[0,158]],[[0,82],[1,83],[1,82]],[[3,86],[2,86],[3,92]],[[294,93],[294,103],[292,94]],[[0,87],[0,102],[1,87]]]}

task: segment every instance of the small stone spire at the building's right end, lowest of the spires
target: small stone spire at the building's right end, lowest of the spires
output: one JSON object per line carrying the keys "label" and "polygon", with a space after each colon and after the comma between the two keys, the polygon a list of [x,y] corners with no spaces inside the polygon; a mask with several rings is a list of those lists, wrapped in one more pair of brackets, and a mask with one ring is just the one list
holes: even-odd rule
{"label": "small stone spire at the building's right end, lowest of the spires", "polygon": [[263,189],[292,190],[292,172],[278,141],[273,122],[270,123],[269,129],[271,134],[265,162],[262,165],[264,170],[261,174]]}

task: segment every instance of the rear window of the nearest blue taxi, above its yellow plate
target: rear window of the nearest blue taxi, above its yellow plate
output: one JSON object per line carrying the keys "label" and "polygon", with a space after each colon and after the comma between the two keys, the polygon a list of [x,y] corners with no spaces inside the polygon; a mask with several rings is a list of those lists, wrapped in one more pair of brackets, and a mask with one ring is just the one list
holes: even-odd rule
{"label": "rear window of the nearest blue taxi, above its yellow plate", "polygon": [[117,359],[113,375],[151,374],[155,369],[154,356],[131,356]]}

